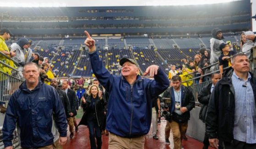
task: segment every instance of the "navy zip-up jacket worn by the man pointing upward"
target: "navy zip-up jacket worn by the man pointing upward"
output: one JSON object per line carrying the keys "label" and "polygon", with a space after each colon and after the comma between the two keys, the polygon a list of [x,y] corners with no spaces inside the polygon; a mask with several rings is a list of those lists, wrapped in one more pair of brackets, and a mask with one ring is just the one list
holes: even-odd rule
{"label": "navy zip-up jacket worn by the man pointing upward", "polygon": [[152,99],[169,87],[166,74],[159,68],[154,80],[137,76],[131,85],[103,66],[98,51],[90,54],[93,73],[109,92],[107,130],[125,138],[147,134],[152,118]]}

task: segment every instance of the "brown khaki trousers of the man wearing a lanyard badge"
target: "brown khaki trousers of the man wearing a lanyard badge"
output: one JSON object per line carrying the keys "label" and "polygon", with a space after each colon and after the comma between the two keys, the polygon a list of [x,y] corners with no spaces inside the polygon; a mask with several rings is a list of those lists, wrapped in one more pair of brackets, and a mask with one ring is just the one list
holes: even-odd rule
{"label": "brown khaki trousers of the man wearing a lanyard badge", "polygon": [[181,149],[181,142],[188,128],[188,122],[177,123],[172,121],[170,126],[173,131],[174,149]]}

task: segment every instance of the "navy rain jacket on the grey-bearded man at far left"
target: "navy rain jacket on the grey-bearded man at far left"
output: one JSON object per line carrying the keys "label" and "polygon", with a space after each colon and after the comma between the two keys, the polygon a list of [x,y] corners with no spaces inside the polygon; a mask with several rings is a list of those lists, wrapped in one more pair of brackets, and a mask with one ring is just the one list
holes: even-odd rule
{"label": "navy rain jacket on the grey-bearded man at far left", "polygon": [[67,121],[57,91],[43,82],[39,82],[30,91],[26,82],[23,82],[11,95],[8,103],[3,125],[5,147],[12,145],[12,133],[16,124],[23,148],[38,148],[53,144],[52,115],[54,115],[60,137],[65,137]]}

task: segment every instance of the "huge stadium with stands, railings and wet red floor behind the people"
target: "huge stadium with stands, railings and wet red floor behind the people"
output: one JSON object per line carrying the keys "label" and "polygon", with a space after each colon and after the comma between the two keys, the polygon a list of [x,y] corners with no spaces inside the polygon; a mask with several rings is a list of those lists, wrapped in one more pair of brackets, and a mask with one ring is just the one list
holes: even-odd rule
{"label": "huge stadium with stands, railings and wet red floor behind the people", "polygon": [[[37,54],[38,58],[49,60],[47,71],[50,69],[60,82],[71,81],[70,85],[76,91],[80,78],[85,82],[95,78],[90,62],[90,51],[85,45],[87,38],[85,30],[95,40],[103,66],[111,75],[122,76],[122,66],[119,62],[121,58],[126,57],[136,62],[141,75],[148,67],[157,65],[166,76],[169,76],[172,66],[182,72],[186,62],[196,62],[194,57],[199,54],[200,49],[212,49],[210,40],[213,38],[214,28],[221,29],[223,42],[229,43],[233,51],[242,52],[241,34],[243,31],[255,30],[254,19],[251,18],[255,15],[255,12],[252,12],[252,5],[255,3],[250,0],[234,0],[216,4],[157,6],[12,7],[9,5],[0,6],[0,28],[7,28],[13,35],[10,40],[5,40],[10,51],[11,45],[22,37],[27,38],[33,54]],[[251,49],[255,50],[255,47]],[[21,63],[3,52],[0,52],[0,55],[15,64],[11,66],[5,61],[0,61],[1,67],[8,67],[13,72],[7,73],[0,69],[0,102],[3,103],[1,106],[6,108],[11,94],[18,89],[24,79],[14,75],[16,74],[14,72],[21,72],[18,69]],[[252,63],[255,61],[253,58]],[[207,86],[211,81],[196,83],[196,79],[200,78],[196,72],[192,72],[191,69],[191,72],[186,72],[183,74],[185,77],[182,77],[182,84],[193,92],[196,101],[196,107],[191,110],[191,118],[186,130],[188,139],[183,141],[185,149],[202,149],[203,146],[205,124],[198,118],[201,103],[198,102],[197,95],[202,87]],[[251,72],[254,72],[254,68]],[[212,73],[214,72],[202,74],[202,77],[210,76]],[[186,77],[189,75],[191,77]],[[153,79],[148,76],[143,78]],[[3,80],[8,80],[8,85]],[[87,87],[88,84],[90,83],[84,83],[83,87]],[[79,111],[80,114],[78,112],[76,116],[78,121],[83,114],[81,108]],[[4,118],[5,113],[0,113],[0,149],[4,149],[2,132]],[[164,123],[166,122],[162,117],[162,123],[160,125],[158,123],[158,140],[152,138],[151,131],[146,135],[145,149],[174,147],[173,143],[165,144]],[[83,138],[84,135],[87,137]],[[108,136],[103,136],[102,139],[102,149],[107,149]],[[68,137],[63,148],[90,148],[87,128],[79,129],[73,140]],[[22,149],[17,134],[13,144],[13,149]]]}

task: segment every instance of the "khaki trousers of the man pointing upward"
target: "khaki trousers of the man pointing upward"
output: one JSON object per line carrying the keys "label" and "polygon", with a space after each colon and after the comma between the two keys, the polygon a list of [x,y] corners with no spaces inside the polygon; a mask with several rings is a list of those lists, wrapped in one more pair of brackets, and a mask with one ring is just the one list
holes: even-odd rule
{"label": "khaki trousers of the man pointing upward", "polygon": [[123,138],[109,133],[109,149],[144,149],[145,136]]}

